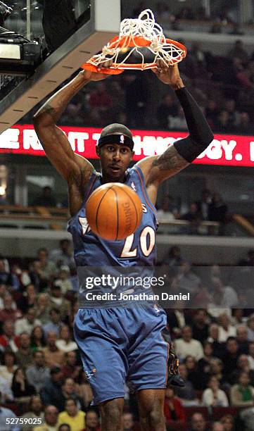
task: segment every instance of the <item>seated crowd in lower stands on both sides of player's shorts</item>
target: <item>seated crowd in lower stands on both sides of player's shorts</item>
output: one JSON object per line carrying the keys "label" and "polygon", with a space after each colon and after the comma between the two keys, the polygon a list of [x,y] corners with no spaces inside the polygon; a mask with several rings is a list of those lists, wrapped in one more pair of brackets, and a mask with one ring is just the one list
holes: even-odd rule
{"label": "seated crowd in lower stands on both sides of player's shorts", "polygon": [[[191,294],[190,307],[178,301],[176,308],[166,308],[186,380],[184,388],[167,389],[167,429],[237,430],[254,414],[254,251],[228,273],[219,266],[191,266],[177,246],[162,265],[169,292]],[[20,425],[25,431],[99,431],[89,376],[72,334],[76,294],[68,240],[58,249],[39,249],[30,262],[0,259],[0,422],[17,415],[37,420],[37,425]],[[213,423],[207,408],[222,407]],[[125,431],[139,430],[136,412],[126,387]]]}

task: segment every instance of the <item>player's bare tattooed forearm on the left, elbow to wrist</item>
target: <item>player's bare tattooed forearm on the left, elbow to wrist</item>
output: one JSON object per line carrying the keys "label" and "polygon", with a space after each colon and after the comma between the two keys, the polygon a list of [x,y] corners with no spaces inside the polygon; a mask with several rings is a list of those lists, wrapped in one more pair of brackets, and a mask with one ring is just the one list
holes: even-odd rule
{"label": "player's bare tattooed forearm on the left, elbow to wrist", "polygon": [[56,94],[46,101],[42,108],[34,115],[34,125],[43,125],[44,127],[56,124],[61,118],[63,111],[77,92],[87,85],[90,80],[80,72],[65,87],[60,89]]}

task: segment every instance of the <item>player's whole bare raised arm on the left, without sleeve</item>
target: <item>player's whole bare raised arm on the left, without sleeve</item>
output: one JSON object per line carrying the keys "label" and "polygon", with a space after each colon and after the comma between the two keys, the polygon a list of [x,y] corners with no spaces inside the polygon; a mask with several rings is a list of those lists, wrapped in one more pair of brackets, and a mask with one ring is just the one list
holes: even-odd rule
{"label": "player's whole bare raised arm on the left, without sleeve", "polygon": [[42,142],[46,156],[68,183],[72,182],[73,178],[78,180],[81,177],[82,181],[88,181],[94,168],[84,157],[72,151],[65,133],[56,126],[56,123],[61,118],[70,99],[84,85],[90,81],[103,80],[107,76],[103,73],[82,70],[72,81],[46,101],[46,104],[34,115],[34,129]]}

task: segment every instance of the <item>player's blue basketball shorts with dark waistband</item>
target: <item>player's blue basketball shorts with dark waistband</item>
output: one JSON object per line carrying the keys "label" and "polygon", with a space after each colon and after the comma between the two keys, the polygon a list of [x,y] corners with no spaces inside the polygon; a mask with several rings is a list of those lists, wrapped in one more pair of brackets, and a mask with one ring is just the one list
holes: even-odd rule
{"label": "player's blue basketball shorts with dark waistband", "polygon": [[161,335],[166,323],[155,304],[77,312],[74,335],[94,404],[124,397],[125,382],[135,392],[166,387],[168,344]]}

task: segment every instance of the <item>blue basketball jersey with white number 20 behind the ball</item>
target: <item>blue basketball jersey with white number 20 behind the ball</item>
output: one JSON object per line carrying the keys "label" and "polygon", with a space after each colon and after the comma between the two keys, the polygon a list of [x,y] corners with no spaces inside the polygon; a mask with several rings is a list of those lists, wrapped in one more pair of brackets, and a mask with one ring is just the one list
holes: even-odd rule
{"label": "blue basketball jersey with white number 20 behind the ball", "polygon": [[[87,293],[91,286],[87,288],[82,279],[98,277],[103,273],[118,276],[113,285],[111,283],[100,286],[93,286],[92,292],[96,294],[112,293],[113,298],[103,301],[103,306],[119,306],[118,299],[120,293],[152,293],[149,283],[140,283],[140,277],[152,277],[153,267],[156,262],[155,231],[157,229],[156,209],[151,203],[146,192],[144,175],[141,169],[134,165],[127,170],[125,185],[129,186],[139,195],[143,207],[143,216],[139,227],[134,234],[120,241],[108,241],[94,234],[91,231],[86,218],[85,204],[92,192],[102,185],[102,177],[95,170],[89,180],[87,192],[80,211],[75,214],[68,223],[68,231],[72,234],[74,244],[74,258],[78,269],[80,283],[81,306],[94,306],[96,301],[87,299]],[[121,275],[135,275],[139,278],[139,283],[123,283]],[[105,280],[104,280],[105,281]],[[91,296],[91,295],[90,295]],[[121,301],[126,305],[128,301]],[[101,302],[100,302],[101,304]]]}

